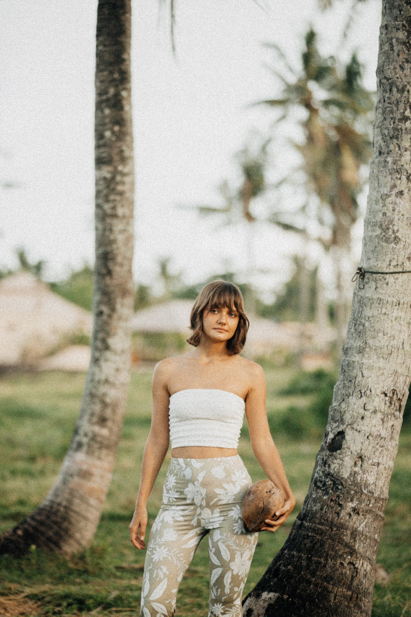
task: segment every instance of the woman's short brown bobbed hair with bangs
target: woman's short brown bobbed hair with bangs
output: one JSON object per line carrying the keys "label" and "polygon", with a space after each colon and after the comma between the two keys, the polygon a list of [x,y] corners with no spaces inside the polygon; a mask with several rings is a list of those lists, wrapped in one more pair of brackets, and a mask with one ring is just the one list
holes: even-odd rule
{"label": "woman's short brown bobbed hair with bangs", "polygon": [[242,292],[234,283],[227,281],[213,281],[208,283],[197,296],[190,315],[190,329],[192,335],[187,339],[187,343],[197,347],[200,343],[203,331],[203,311],[210,310],[211,307],[228,307],[235,309],[238,313],[238,324],[234,336],[227,341],[227,351],[230,354],[239,354],[245,346],[249,321],[244,312],[244,300]]}

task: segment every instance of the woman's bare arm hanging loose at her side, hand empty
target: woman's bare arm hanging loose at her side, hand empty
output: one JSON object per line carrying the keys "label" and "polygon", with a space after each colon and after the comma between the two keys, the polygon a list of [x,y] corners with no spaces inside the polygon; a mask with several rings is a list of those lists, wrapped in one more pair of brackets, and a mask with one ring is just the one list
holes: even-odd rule
{"label": "woman's bare arm hanging loose at her side, hand empty", "polygon": [[145,547],[144,536],[148,520],[147,499],[149,499],[169,445],[167,365],[168,362],[163,360],[163,362],[158,363],[153,372],[152,421],[149,437],[144,448],[136,508],[129,524],[130,539],[137,549],[144,549]]}

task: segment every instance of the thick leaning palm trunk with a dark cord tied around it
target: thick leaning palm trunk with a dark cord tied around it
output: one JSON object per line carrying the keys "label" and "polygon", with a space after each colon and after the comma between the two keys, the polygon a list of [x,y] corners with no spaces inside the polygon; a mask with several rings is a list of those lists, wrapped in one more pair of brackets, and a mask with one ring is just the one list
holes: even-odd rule
{"label": "thick leaning palm trunk with a dark cord tied around it", "polygon": [[[411,376],[411,2],[383,0],[362,247],[340,375],[311,486],[245,617],[369,617]],[[367,270],[390,274],[367,273]],[[363,287],[363,285],[361,285]]]}

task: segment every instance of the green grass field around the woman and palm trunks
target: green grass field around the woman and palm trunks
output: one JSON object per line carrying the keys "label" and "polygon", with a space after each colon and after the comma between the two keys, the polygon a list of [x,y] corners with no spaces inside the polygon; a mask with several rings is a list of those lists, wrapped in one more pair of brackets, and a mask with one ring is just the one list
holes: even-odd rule
{"label": "green grass field around the woman and palm trunks", "polygon": [[[323,432],[319,416],[301,411],[311,394],[280,394],[290,383],[291,369],[267,370],[266,376],[272,433],[297,507],[279,532],[260,534],[245,593],[261,578],[290,531],[307,492]],[[35,548],[19,560],[1,557],[0,615],[138,614],[144,554],[129,542],[128,523],[150,426],[150,380],[149,370],[132,374],[113,480],[91,549],[69,561],[44,555]],[[71,439],[83,385],[82,374],[20,373],[0,378],[0,531],[22,520],[52,486]],[[294,431],[303,438],[293,436]],[[239,451],[253,480],[261,479],[263,474],[254,461],[246,429]],[[164,473],[163,469],[150,498],[151,521],[160,504]],[[376,585],[373,617],[411,617],[410,487],[411,431],[404,428],[378,555],[378,561],[391,574],[391,582]],[[200,545],[179,590],[177,615],[205,616],[207,597],[208,557],[206,546]]]}

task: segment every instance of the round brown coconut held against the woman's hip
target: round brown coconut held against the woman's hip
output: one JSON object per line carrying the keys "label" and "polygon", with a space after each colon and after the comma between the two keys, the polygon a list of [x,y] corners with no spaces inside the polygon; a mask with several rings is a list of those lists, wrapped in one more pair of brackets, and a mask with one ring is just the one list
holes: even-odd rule
{"label": "round brown coconut held against the woman's hip", "polygon": [[267,519],[275,520],[275,512],[283,507],[285,497],[271,480],[260,480],[250,486],[243,497],[241,515],[248,531],[260,531]]}

